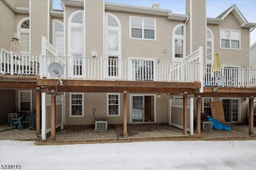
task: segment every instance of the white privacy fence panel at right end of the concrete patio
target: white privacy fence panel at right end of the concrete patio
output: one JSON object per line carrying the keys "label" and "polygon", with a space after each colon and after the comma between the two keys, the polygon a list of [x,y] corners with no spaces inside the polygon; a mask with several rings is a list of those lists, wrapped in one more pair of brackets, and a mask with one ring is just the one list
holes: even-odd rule
{"label": "white privacy fence panel at right end of the concrete patio", "polygon": [[[187,100],[188,108],[188,131],[190,135],[194,133],[194,109],[193,98]],[[168,124],[184,129],[183,127],[183,100],[170,99],[168,109]]]}

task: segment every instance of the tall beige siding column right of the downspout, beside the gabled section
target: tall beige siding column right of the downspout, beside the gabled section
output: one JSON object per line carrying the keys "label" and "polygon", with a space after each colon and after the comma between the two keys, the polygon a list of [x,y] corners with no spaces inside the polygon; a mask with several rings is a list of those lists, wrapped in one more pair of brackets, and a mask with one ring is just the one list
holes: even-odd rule
{"label": "tall beige siding column right of the downspout, beside the gabled section", "polygon": [[[192,52],[203,46],[203,56],[206,54],[206,2],[192,1]],[[204,57],[204,62],[205,62]]]}

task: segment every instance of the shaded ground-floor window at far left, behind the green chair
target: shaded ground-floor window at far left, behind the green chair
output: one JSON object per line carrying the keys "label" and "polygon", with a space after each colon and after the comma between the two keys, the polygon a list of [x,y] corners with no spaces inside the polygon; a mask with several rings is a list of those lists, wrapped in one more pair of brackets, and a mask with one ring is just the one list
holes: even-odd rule
{"label": "shaded ground-floor window at far left, behind the green chair", "polygon": [[19,90],[19,111],[33,111],[32,90]]}

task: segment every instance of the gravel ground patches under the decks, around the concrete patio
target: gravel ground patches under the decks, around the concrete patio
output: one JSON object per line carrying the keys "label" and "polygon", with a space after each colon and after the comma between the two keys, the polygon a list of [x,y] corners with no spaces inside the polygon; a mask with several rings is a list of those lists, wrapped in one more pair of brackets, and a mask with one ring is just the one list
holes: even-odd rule
{"label": "gravel ground patches under the decks, around the concrete patio", "polygon": [[[13,126],[15,128],[15,126]],[[182,132],[182,129],[176,128]],[[217,138],[235,138],[235,137],[246,137],[246,135],[233,133],[232,131],[218,131],[208,130],[201,131],[201,139],[217,139]],[[38,141],[40,138],[37,137],[35,130],[28,128],[12,129],[10,131],[10,125],[0,126],[0,140],[33,140]],[[106,131],[94,131],[94,127],[65,127],[63,130],[56,131],[56,141],[91,141],[91,140],[108,140],[118,139],[118,134],[114,126],[109,126]],[[51,141],[51,137],[47,138],[47,141]]]}

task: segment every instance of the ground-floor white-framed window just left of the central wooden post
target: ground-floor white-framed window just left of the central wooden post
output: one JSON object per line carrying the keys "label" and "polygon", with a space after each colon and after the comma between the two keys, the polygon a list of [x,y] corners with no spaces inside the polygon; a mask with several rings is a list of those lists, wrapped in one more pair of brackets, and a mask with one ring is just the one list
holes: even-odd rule
{"label": "ground-floor white-framed window just left of the central wooden post", "polygon": [[107,116],[120,116],[120,93],[107,93]]}

